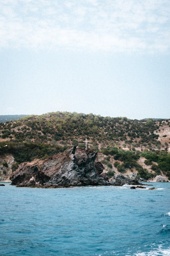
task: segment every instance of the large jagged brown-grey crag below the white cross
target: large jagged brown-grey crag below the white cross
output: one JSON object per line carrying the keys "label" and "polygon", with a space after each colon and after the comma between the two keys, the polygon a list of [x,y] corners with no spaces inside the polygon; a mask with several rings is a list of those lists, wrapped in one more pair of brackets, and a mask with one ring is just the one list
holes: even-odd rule
{"label": "large jagged brown-grey crag below the white cross", "polygon": [[[97,153],[72,147],[35,164],[24,163],[10,177],[12,185],[40,187],[109,185],[98,174],[102,166],[94,164]],[[49,185],[50,184],[50,185]]]}

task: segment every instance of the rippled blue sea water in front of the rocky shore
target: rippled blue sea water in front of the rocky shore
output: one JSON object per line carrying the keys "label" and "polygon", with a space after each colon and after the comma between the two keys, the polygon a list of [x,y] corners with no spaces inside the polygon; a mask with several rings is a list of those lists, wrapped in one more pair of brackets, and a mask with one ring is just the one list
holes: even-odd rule
{"label": "rippled blue sea water in front of the rocky shore", "polygon": [[170,183],[0,186],[0,255],[170,255]]}

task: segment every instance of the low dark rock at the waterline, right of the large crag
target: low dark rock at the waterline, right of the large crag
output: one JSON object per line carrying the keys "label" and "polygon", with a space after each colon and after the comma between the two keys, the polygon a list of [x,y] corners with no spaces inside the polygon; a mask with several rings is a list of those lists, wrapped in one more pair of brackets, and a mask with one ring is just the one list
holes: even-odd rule
{"label": "low dark rock at the waterline, right of the large crag", "polygon": [[138,182],[136,176],[123,176],[123,175],[117,175],[115,178],[111,178],[110,184],[114,186],[123,186],[125,184],[127,185],[142,185]]}

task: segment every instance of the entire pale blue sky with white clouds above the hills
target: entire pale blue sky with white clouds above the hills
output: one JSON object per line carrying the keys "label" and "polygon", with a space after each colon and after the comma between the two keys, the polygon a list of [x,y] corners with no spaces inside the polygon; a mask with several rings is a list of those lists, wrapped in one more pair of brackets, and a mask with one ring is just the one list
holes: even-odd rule
{"label": "entire pale blue sky with white clouds above the hills", "polygon": [[0,0],[0,115],[170,118],[169,0]]}

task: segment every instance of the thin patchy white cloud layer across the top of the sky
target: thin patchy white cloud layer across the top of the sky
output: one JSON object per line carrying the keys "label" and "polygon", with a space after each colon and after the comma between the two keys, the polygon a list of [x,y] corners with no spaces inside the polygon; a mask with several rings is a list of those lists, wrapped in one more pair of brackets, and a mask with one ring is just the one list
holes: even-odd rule
{"label": "thin patchy white cloud layer across the top of the sky", "polygon": [[0,47],[167,52],[169,0],[1,0]]}

